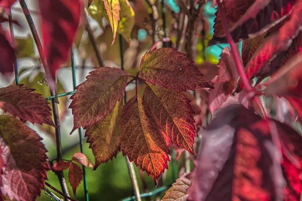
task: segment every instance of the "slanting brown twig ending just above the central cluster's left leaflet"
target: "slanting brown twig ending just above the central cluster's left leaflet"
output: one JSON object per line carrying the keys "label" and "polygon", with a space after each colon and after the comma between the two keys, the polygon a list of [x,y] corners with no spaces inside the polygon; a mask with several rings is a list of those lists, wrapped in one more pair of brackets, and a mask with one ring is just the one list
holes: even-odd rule
{"label": "slanting brown twig ending just above the central cluster's left leaflet", "polygon": [[89,22],[88,22],[88,12],[87,12],[87,9],[85,9],[85,12],[83,13],[83,20],[84,20],[85,29],[86,29],[86,31],[88,33],[89,39],[90,39],[90,41],[92,43],[92,47],[93,47],[94,52],[96,54],[98,63],[100,65],[100,67],[103,67],[103,66],[105,66],[104,65],[104,61],[103,61],[101,52],[100,52],[98,44],[97,44],[97,40],[94,37],[93,31],[92,31],[92,29],[91,29],[91,27],[89,25]]}

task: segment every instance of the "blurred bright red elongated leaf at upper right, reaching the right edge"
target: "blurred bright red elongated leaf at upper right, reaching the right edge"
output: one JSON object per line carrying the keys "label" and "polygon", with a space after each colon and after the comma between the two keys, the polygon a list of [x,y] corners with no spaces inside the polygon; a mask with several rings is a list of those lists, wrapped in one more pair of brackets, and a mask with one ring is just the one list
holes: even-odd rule
{"label": "blurred bright red elongated leaf at upper right, reaching the right edge", "polygon": [[[270,35],[259,47],[247,65],[247,76],[252,78],[259,74],[272,72],[278,65],[268,65],[276,56],[287,51],[292,40],[297,37],[302,27],[302,1],[298,0],[294,6],[290,19],[286,21],[278,32]],[[268,69],[267,69],[268,68]]]}

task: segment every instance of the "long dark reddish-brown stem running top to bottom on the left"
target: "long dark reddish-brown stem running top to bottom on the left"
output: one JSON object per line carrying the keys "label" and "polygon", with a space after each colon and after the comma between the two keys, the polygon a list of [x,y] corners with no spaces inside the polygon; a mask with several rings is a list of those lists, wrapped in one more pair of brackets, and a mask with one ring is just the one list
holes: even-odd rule
{"label": "long dark reddish-brown stem running top to bottom on the left", "polygon": [[[30,27],[30,30],[32,32],[32,35],[33,35],[34,41],[36,43],[36,46],[37,46],[42,64],[44,66],[44,69],[45,69],[45,71],[47,71],[47,69],[48,69],[47,62],[46,62],[46,59],[45,59],[44,50],[42,48],[42,43],[41,43],[41,40],[39,38],[36,26],[33,22],[33,19],[31,17],[30,13],[28,12],[28,7],[27,7],[25,1],[24,0],[19,0],[19,3],[20,3],[20,5],[23,9],[24,15],[26,17],[26,20],[27,20],[28,25]],[[54,91],[51,91],[51,95],[54,95]],[[60,161],[62,159],[62,146],[61,146],[61,134],[60,134],[60,128],[59,128],[60,122],[59,122],[59,115],[58,115],[58,107],[57,107],[57,103],[56,103],[56,98],[52,99],[51,102],[52,102],[54,123],[56,125],[55,134],[56,134],[57,161]],[[69,195],[68,188],[67,188],[67,185],[66,185],[66,180],[64,178],[63,172],[62,171],[57,171],[56,174],[58,176],[58,179],[59,179],[59,182],[60,182],[63,193],[66,194],[66,195]]]}

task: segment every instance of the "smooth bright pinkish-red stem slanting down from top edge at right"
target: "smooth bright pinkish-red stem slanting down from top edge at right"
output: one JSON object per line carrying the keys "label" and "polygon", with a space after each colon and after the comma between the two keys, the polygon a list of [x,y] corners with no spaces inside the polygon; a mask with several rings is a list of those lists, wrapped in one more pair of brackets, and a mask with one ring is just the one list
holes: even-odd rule
{"label": "smooth bright pinkish-red stem slanting down from top edge at right", "polygon": [[228,24],[226,23],[226,20],[225,20],[225,13],[224,13],[224,10],[223,10],[222,5],[220,3],[220,0],[217,1],[217,6],[218,6],[219,14],[221,16],[222,25],[223,25],[224,33],[225,33],[225,36],[226,36],[226,40],[228,40],[228,42],[230,43],[230,46],[231,46],[231,51],[232,51],[232,55],[233,55],[235,63],[236,63],[236,68],[237,68],[237,70],[238,70],[238,72],[241,76],[243,85],[245,86],[245,88],[248,91],[251,91],[252,86],[251,86],[250,81],[249,81],[249,79],[248,79],[248,77],[247,77],[247,75],[244,71],[243,64],[241,62],[238,49],[235,46],[235,42],[234,42],[234,40],[233,40],[233,38],[230,34]]}

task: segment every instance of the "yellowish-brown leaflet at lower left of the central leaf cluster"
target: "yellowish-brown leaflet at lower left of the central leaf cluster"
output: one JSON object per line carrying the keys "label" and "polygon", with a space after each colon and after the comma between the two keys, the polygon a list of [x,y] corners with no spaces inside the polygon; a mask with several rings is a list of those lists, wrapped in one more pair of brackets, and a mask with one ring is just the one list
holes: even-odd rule
{"label": "yellowish-brown leaflet at lower left of the central leaf cluster", "polygon": [[120,114],[122,106],[122,102],[117,102],[112,112],[104,119],[94,125],[85,127],[87,142],[90,143],[89,147],[95,156],[94,169],[115,157],[120,149],[122,140]]}

